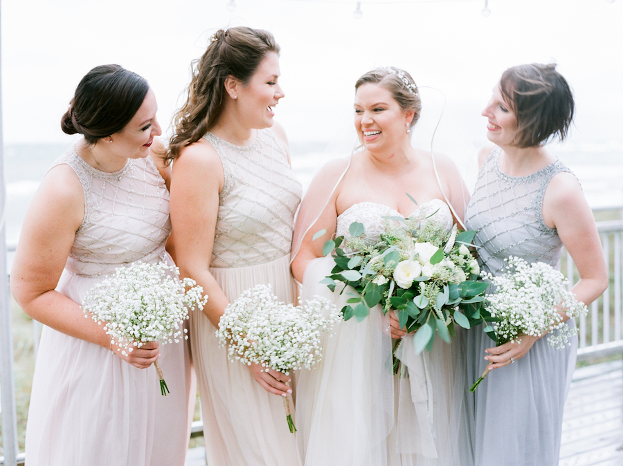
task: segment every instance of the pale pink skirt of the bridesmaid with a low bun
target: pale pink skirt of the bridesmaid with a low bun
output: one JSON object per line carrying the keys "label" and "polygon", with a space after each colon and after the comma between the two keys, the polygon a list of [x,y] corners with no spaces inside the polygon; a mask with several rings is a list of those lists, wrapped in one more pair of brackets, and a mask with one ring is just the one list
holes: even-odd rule
{"label": "pale pink skirt of the bridesmaid with a low bun", "polygon": [[[170,262],[172,263],[172,261]],[[63,272],[57,290],[78,303],[104,277]],[[160,346],[156,369],[44,326],[26,426],[29,466],[183,466],[195,406],[188,342]]]}

